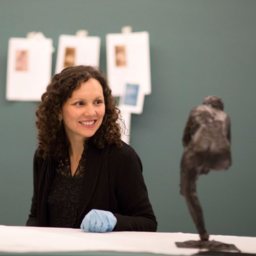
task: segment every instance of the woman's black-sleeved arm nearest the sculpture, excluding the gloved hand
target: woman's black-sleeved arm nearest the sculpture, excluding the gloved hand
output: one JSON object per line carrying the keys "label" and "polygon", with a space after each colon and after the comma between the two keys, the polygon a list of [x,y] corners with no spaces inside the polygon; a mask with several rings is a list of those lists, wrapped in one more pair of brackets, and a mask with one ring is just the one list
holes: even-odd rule
{"label": "woman's black-sleeved arm nearest the sculpture, excluding the gloved hand", "polygon": [[120,214],[113,231],[151,231],[157,228],[156,216],[148,198],[139,156],[131,149],[121,163],[116,189]]}

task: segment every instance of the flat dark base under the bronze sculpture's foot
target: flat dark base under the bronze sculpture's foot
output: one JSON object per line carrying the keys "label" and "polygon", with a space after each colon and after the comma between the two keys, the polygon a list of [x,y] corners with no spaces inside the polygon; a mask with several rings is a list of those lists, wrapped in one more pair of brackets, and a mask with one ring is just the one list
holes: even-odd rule
{"label": "flat dark base under the bronze sculpture's foot", "polygon": [[229,245],[218,241],[185,241],[183,243],[176,242],[177,247],[182,248],[198,248],[207,249],[210,251],[236,251],[240,252],[235,245]]}

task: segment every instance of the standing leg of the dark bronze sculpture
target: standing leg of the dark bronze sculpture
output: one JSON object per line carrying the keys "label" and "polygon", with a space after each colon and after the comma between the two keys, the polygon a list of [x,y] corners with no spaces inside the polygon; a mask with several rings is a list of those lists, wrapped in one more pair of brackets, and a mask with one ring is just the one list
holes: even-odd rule
{"label": "standing leg of the dark bronze sculpture", "polygon": [[[181,194],[185,196],[189,212],[193,218],[197,231],[199,232],[201,241],[207,241],[209,234],[205,230],[203,211],[201,209],[199,199],[197,198],[196,191],[196,181],[201,170],[199,170],[199,168],[188,168],[189,166],[186,166],[187,160],[186,156],[183,156],[183,160],[181,162]],[[191,164],[190,161],[189,163]]]}

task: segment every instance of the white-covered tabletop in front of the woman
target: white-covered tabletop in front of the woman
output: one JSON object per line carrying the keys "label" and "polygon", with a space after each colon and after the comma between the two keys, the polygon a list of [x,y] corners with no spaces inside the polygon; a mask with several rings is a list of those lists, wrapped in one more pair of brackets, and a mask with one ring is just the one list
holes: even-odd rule
{"label": "white-covered tabletop in front of the woman", "polygon": [[[85,233],[72,228],[0,226],[0,253],[120,252],[193,255],[175,242],[199,240],[198,234],[161,232]],[[210,240],[234,244],[242,253],[256,254],[256,237],[211,235]],[[1,255],[1,254],[0,254]]]}

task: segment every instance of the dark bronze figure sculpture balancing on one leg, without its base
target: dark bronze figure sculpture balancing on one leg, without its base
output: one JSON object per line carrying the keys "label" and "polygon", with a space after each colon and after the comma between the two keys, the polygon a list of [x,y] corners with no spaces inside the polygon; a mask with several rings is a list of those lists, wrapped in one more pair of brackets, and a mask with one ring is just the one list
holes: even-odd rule
{"label": "dark bronze figure sculpture balancing on one leg, without its base", "polygon": [[207,96],[192,108],[183,133],[181,195],[186,199],[201,241],[208,241],[203,212],[197,198],[196,181],[210,170],[226,170],[231,165],[230,119],[221,98]]}

